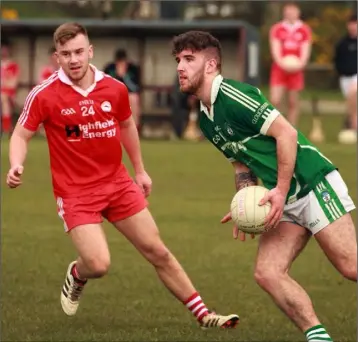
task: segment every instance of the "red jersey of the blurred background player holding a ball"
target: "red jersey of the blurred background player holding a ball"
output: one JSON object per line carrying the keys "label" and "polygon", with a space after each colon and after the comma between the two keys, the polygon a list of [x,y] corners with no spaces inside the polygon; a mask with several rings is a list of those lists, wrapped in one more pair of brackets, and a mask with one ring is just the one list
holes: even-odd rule
{"label": "red jersey of the blurred background player holding a ball", "polygon": [[301,56],[302,44],[311,41],[312,33],[310,27],[302,21],[289,24],[281,21],[272,26],[270,39],[278,39],[281,42],[281,56]]}

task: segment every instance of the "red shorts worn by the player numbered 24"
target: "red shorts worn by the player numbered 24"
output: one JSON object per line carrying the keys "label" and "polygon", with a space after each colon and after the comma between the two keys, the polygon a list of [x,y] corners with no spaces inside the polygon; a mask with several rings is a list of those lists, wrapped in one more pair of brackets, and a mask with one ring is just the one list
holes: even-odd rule
{"label": "red shorts worn by the player numbered 24", "polygon": [[138,185],[130,178],[103,186],[89,195],[57,197],[58,215],[65,231],[91,223],[102,223],[103,217],[116,222],[133,216],[148,205]]}

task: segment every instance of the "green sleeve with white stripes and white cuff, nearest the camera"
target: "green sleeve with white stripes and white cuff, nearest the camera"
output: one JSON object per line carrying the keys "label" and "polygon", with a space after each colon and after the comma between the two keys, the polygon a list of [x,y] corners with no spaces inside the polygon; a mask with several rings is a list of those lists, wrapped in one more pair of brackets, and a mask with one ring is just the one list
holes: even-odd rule
{"label": "green sleeve with white stripes and white cuff, nearest the camera", "polygon": [[266,135],[280,112],[265,98],[258,88],[230,94],[234,100],[234,120],[255,134]]}

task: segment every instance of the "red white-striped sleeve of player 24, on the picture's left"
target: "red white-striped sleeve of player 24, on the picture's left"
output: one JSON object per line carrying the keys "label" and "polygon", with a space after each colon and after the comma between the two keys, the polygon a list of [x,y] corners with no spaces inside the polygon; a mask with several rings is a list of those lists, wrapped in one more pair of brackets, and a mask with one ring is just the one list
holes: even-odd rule
{"label": "red white-striped sleeve of player 24, on the picture's left", "polygon": [[43,121],[41,101],[38,94],[36,94],[35,88],[27,95],[18,123],[26,129],[35,132]]}

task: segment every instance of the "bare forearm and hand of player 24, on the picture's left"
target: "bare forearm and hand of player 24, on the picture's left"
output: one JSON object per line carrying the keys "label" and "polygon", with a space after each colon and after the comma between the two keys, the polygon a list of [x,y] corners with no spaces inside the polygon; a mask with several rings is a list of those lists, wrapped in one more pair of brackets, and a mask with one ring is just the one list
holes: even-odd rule
{"label": "bare forearm and hand of player 24, on the picture's left", "polygon": [[21,185],[23,164],[26,159],[27,145],[35,132],[30,131],[20,124],[17,124],[11,135],[9,147],[10,170],[7,174],[7,185],[16,188]]}

